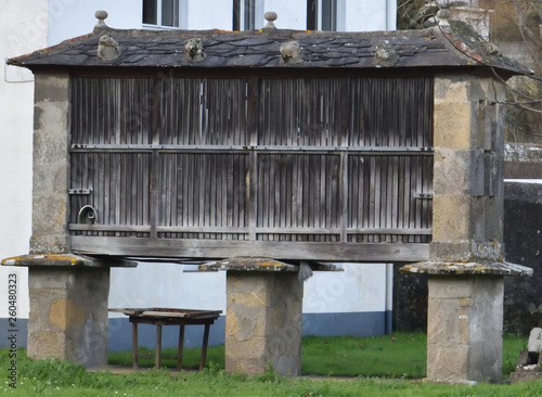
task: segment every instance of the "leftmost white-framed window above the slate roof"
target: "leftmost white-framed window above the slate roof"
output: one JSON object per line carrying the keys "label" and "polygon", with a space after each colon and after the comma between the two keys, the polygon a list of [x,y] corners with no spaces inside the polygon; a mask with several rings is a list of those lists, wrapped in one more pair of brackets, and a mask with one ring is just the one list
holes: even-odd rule
{"label": "leftmost white-framed window above the slate roof", "polygon": [[185,0],[143,0],[143,25],[180,28],[184,25]]}

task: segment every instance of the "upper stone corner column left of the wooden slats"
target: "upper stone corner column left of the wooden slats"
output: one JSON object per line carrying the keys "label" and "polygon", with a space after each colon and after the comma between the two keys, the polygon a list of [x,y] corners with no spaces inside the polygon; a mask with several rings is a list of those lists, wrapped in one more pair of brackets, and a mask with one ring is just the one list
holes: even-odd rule
{"label": "upper stone corner column left of the wooden slats", "polygon": [[67,254],[69,238],[68,75],[36,74],[30,254]]}

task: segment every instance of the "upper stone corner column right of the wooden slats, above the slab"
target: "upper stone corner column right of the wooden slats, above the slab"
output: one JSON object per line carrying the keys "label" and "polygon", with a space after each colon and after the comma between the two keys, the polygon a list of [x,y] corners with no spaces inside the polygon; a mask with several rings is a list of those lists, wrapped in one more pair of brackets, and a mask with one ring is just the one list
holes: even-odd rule
{"label": "upper stone corner column right of the wooden slats, above the slab", "polygon": [[435,79],[430,260],[503,260],[504,123],[495,100],[502,92],[489,78]]}

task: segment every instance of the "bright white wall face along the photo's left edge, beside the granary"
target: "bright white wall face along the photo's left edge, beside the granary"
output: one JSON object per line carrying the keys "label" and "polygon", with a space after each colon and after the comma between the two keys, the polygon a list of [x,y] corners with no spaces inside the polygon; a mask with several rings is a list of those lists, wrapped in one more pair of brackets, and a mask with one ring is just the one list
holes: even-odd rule
{"label": "bright white wall face along the photo's left edge, beside the granary", "polygon": [[[0,23],[0,259],[28,253],[31,234],[34,76],[9,57],[47,46],[47,0],[3,1]],[[26,268],[0,268],[0,318],[8,317],[8,274],[17,274],[17,315],[28,317]]]}

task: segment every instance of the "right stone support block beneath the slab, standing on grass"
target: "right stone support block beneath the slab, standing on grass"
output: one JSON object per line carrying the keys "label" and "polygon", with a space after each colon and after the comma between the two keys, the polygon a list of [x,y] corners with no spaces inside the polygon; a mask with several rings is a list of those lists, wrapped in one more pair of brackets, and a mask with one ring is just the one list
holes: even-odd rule
{"label": "right stone support block beneath the slab, standing on grass", "polygon": [[429,276],[428,380],[501,380],[503,280],[502,276]]}

